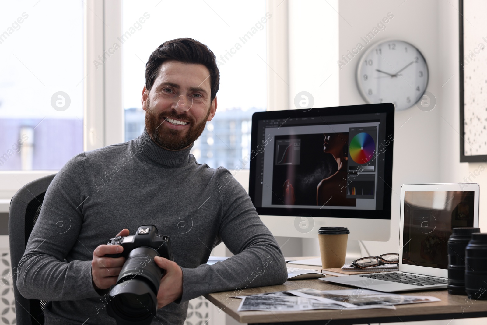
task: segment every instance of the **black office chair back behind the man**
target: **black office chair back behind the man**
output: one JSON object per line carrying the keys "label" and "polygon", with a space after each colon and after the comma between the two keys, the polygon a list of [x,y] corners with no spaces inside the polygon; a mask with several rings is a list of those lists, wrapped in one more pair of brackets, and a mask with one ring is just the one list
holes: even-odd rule
{"label": "black office chair back behind the man", "polygon": [[43,325],[44,306],[47,301],[26,299],[17,289],[17,266],[22,258],[27,240],[37,221],[46,190],[56,174],[41,177],[23,186],[10,201],[8,213],[8,240],[12,266],[15,317],[17,324]]}

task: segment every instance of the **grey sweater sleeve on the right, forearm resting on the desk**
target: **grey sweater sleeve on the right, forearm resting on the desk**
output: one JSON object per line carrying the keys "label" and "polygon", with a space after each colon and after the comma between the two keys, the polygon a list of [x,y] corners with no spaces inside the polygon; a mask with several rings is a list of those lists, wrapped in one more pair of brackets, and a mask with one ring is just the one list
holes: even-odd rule
{"label": "grey sweater sleeve on the right, forearm resting on the desk", "polygon": [[[224,168],[217,169],[222,218],[219,235],[234,256],[214,265],[182,268],[187,301],[206,293],[279,285],[287,280],[282,252],[262,223],[252,200]],[[179,303],[176,301],[176,303]]]}

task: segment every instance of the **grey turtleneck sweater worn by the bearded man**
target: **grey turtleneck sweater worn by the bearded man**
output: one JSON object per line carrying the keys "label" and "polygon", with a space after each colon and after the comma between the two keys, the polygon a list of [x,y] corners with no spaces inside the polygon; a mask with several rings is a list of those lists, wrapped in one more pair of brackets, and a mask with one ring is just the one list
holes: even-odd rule
{"label": "grey turtleneck sweater worn by the bearded man", "polygon": [[[156,226],[183,270],[183,296],[159,309],[152,324],[184,324],[188,300],[206,293],[286,281],[279,246],[244,188],[225,168],[198,164],[191,147],[165,150],[144,130],[80,153],[57,173],[17,279],[25,298],[49,301],[46,325],[115,324],[106,311],[109,289],[95,291],[91,263],[94,249],[124,228],[133,234]],[[235,255],[207,265],[222,241]]]}

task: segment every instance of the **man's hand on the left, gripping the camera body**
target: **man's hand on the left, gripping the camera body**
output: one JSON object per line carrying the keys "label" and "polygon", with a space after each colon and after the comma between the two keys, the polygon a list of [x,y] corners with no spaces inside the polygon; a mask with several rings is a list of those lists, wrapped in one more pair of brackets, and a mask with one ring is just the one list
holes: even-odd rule
{"label": "man's hand on the left, gripping the camera body", "polygon": [[[128,236],[129,229],[123,229],[117,236]],[[125,263],[124,257],[105,257],[123,251],[120,245],[99,245],[93,251],[92,279],[95,289],[107,289],[117,283],[118,274]]]}

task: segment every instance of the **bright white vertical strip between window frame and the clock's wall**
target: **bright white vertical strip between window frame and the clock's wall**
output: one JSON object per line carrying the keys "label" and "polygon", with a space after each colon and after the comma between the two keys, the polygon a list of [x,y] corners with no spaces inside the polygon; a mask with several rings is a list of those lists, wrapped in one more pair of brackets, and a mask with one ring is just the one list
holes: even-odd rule
{"label": "bright white vertical strip between window frame and the clock's wall", "polygon": [[[338,0],[289,0],[289,108],[308,92],[313,107],[338,106]],[[325,81],[326,80],[326,81]]]}

